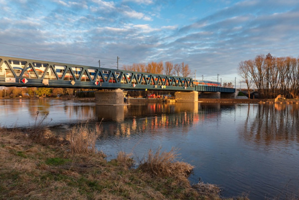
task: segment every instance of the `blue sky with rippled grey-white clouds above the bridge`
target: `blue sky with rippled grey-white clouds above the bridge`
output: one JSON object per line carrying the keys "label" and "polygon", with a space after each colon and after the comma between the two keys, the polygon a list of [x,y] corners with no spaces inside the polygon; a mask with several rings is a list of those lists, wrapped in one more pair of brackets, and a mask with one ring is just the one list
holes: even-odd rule
{"label": "blue sky with rippled grey-white clouds above the bridge", "polygon": [[[299,56],[299,0],[0,0],[0,55],[116,68],[184,62],[240,87],[241,61]],[[196,71],[195,71],[196,70]]]}

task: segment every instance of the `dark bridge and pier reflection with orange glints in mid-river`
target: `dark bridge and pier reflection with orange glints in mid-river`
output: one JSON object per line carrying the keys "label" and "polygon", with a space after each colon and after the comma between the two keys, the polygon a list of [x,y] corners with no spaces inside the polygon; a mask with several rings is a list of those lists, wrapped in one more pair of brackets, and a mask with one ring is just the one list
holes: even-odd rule
{"label": "dark bridge and pier reflection with orange glints in mid-river", "polygon": [[[109,136],[129,136],[131,133],[163,134],[173,132],[173,128],[182,128],[187,133],[193,124],[217,117],[217,109],[201,108],[198,103],[163,104],[135,103],[126,106],[96,106],[98,120],[113,120],[119,123],[107,123],[102,126],[102,138]],[[126,120],[124,121],[124,119]],[[124,121],[124,122],[122,122]],[[122,122],[122,123],[120,123]]]}

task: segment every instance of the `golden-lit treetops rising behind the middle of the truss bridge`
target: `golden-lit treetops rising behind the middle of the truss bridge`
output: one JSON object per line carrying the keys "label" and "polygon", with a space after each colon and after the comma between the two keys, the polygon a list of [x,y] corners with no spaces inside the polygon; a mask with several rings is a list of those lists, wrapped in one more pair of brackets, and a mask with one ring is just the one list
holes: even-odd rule
{"label": "golden-lit treetops rising behind the middle of the truss bridge", "polygon": [[166,62],[154,62],[151,61],[148,64],[145,63],[134,63],[132,65],[123,65],[124,70],[138,71],[152,74],[165,74],[173,76],[190,77],[191,70],[189,65],[182,62],[179,64],[173,64],[170,61]]}

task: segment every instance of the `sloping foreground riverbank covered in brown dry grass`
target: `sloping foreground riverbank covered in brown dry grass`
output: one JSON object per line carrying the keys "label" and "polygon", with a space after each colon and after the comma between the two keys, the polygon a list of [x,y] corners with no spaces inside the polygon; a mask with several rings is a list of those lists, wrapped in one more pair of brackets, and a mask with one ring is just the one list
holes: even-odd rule
{"label": "sloping foreground riverbank covered in brown dry grass", "polygon": [[135,169],[122,152],[108,162],[95,148],[97,134],[75,127],[66,140],[38,127],[0,128],[0,199],[221,199],[214,185],[190,185],[193,166],[174,151],[149,151]]}

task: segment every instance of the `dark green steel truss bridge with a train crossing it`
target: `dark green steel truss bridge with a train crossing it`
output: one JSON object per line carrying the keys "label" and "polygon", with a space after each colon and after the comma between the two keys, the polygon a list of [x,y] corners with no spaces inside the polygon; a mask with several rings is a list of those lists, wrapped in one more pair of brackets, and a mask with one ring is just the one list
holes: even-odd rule
{"label": "dark green steel truss bridge with a train crossing it", "polygon": [[0,56],[0,86],[235,92],[234,88],[195,85],[190,77],[6,56]]}

